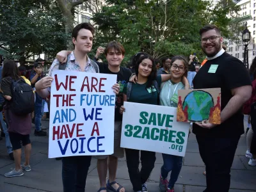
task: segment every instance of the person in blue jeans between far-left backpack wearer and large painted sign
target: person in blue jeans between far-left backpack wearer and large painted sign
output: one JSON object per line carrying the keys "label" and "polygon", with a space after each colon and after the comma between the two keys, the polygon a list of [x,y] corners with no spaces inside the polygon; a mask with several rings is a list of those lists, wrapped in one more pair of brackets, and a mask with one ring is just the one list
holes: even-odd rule
{"label": "person in blue jeans between far-left backpack wearer and large painted sign", "polygon": [[[38,60],[39,59],[39,60]],[[31,71],[29,81],[32,88],[35,87],[36,82],[42,79],[42,59],[38,58],[34,63],[34,70]],[[41,120],[44,113],[44,99],[35,92],[35,136],[46,136],[47,133],[41,129]]]}

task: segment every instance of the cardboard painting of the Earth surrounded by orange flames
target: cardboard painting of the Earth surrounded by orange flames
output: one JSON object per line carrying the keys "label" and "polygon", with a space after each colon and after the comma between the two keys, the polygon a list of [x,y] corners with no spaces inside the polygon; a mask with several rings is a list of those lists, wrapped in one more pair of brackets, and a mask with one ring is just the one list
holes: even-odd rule
{"label": "cardboard painting of the Earth surrounded by orange flames", "polygon": [[177,122],[221,124],[221,88],[179,90]]}

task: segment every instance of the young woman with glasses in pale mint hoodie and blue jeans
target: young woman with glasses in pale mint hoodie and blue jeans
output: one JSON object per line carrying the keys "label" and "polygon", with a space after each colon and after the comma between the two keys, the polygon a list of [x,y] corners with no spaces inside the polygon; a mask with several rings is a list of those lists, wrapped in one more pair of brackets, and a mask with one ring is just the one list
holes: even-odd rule
{"label": "young woman with glasses in pale mint hoodie and blue jeans", "polygon": [[[183,56],[174,56],[171,61],[171,79],[161,84],[161,106],[178,106],[178,90],[184,90],[182,79],[188,74],[188,61]],[[179,177],[182,167],[182,157],[162,154],[164,164],[161,167],[159,189],[162,192],[174,192],[174,184]],[[167,176],[171,172],[168,182]]]}

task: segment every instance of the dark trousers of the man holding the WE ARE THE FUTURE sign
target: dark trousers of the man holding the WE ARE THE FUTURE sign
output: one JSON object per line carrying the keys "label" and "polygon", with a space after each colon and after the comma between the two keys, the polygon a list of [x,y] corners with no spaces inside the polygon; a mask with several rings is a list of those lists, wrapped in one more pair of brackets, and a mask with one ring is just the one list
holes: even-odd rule
{"label": "dark trousers of the man holding the WE ARE THE FUTURE sign", "polygon": [[63,192],[84,192],[92,156],[62,158]]}

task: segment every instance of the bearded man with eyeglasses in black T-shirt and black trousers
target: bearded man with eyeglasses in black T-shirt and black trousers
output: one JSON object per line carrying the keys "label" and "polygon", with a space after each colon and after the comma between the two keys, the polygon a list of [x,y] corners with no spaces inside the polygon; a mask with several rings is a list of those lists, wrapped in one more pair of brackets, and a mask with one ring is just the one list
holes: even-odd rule
{"label": "bearded man with eyeglasses in black T-shirt and black trousers", "polygon": [[200,36],[207,61],[196,74],[193,84],[195,89],[221,88],[221,124],[195,123],[193,132],[205,163],[205,192],[228,192],[230,168],[244,132],[241,107],[250,99],[252,86],[243,63],[221,47],[223,38],[217,26],[204,26]]}

